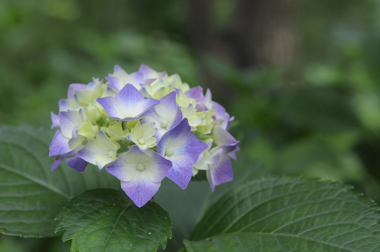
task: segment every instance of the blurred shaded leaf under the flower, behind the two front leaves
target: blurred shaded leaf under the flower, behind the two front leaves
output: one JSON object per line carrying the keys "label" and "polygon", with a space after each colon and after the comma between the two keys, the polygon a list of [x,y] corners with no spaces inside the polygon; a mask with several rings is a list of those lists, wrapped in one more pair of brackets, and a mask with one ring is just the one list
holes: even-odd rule
{"label": "blurred shaded leaf under the flower, behind the two front leaves", "polygon": [[177,251],[183,247],[183,239],[190,236],[196,222],[220,195],[249,179],[268,176],[260,165],[251,164],[250,169],[247,169],[248,161],[246,158],[239,153],[237,155],[238,161],[233,161],[232,164],[234,179],[231,182],[216,186],[214,192],[211,192],[208,181],[192,179],[185,190],[182,190],[168,178],[161,182],[160,189],[154,195],[154,201],[170,213],[173,221],[172,231],[175,235],[168,240],[168,246],[165,250],[159,248],[158,251]]}

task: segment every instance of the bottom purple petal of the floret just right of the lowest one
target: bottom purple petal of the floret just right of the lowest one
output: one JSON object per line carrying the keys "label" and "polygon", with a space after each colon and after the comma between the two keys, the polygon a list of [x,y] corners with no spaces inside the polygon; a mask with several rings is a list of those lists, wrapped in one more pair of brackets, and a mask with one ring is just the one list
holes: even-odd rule
{"label": "bottom purple petal of the floret just right of the lowest one", "polygon": [[173,167],[171,167],[166,176],[179,187],[185,189],[193,175],[192,162],[187,157],[182,156],[170,156],[169,160],[173,163]]}

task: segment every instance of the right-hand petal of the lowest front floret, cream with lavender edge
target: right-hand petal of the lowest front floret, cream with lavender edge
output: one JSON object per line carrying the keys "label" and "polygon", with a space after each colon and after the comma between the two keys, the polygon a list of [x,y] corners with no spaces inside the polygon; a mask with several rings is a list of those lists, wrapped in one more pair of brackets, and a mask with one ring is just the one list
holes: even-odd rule
{"label": "right-hand petal of the lowest front floret, cream with lavender edge", "polygon": [[146,150],[146,153],[152,157],[152,161],[144,162],[146,175],[150,181],[159,183],[166,177],[173,164],[152,150]]}

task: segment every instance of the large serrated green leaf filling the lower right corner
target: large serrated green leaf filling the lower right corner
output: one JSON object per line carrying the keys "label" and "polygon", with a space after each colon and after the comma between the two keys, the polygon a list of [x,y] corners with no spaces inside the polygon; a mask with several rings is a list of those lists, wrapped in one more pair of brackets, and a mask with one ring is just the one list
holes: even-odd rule
{"label": "large serrated green leaf filling the lower right corner", "polygon": [[373,201],[339,183],[266,178],[227,192],[194,228],[193,251],[380,250]]}

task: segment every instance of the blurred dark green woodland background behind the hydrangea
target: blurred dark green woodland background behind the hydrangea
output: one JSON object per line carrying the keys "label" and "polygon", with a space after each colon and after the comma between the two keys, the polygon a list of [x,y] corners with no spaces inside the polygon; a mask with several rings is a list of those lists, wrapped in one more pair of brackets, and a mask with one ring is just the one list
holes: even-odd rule
{"label": "blurred dark green woodland background behind the hydrangea", "polygon": [[[211,88],[234,165],[380,202],[380,0],[0,1],[1,124],[49,129],[70,83],[141,63]],[[0,235],[0,252],[69,250]]]}

